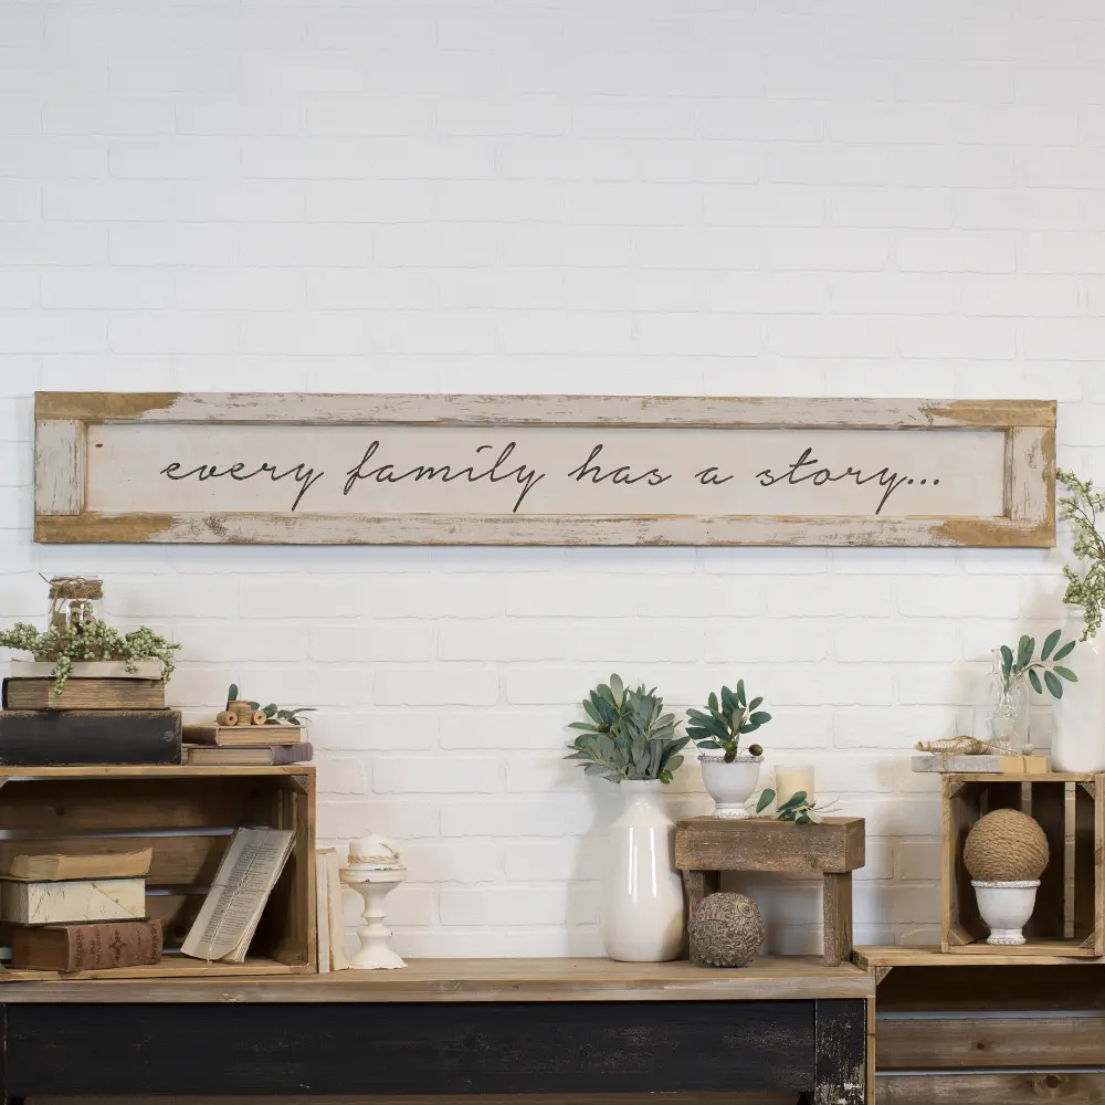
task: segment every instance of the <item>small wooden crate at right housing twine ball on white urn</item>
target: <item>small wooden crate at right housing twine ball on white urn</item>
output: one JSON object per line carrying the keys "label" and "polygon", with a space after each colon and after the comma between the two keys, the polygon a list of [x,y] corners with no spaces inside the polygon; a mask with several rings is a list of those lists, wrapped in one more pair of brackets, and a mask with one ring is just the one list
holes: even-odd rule
{"label": "small wooden crate at right housing twine ball on white urn", "polygon": [[[1105,955],[1105,775],[948,775],[943,792],[943,950],[1014,957]],[[1032,919],[1024,926],[1028,943],[1020,947],[986,943],[988,929],[962,861],[971,825],[999,809],[1030,813],[1051,850]]]}

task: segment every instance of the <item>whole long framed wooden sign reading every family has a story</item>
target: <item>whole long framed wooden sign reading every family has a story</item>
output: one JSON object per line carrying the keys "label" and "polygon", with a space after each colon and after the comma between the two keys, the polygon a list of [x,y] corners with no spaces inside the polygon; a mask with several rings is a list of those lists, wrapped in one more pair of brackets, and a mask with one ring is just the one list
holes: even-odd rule
{"label": "whole long framed wooden sign reading every family has a story", "polygon": [[1038,401],[39,392],[35,539],[1055,540]]}

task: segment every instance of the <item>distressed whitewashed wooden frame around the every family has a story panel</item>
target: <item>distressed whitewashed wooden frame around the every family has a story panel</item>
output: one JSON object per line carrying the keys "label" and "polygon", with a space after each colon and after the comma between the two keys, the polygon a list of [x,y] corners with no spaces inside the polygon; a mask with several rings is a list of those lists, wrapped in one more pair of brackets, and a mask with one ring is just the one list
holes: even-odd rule
{"label": "distressed whitewashed wooden frame around the every family has a story panel", "polygon": [[[898,545],[1055,544],[1054,401],[709,397],[38,392],[34,538],[55,544]],[[118,424],[596,429],[990,430],[1003,509],[986,517],[97,513],[90,430]],[[98,448],[98,446],[97,446]],[[849,470],[851,472],[851,469]],[[697,475],[697,473],[696,473]]]}

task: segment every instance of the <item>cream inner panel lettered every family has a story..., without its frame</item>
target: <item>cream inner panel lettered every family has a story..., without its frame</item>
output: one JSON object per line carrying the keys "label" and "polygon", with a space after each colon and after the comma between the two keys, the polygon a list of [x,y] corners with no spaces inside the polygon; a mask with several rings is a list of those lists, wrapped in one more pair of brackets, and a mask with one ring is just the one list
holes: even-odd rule
{"label": "cream inner panel lettered every family has a story..., without its frame", "polygon": [[[924,446],[918,448],[918,446]],[[997,430],[101,425],[90,511],[997,517]]]}

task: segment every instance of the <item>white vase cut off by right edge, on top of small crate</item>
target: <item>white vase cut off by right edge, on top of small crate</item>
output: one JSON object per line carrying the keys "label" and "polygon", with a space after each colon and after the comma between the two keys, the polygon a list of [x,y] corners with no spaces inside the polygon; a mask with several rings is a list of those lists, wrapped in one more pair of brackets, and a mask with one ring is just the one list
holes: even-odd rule
{"label": "white vase cut off by right edge, on top of small crate", "polygon": [[[1082,615],[1067,618],[1063,640],[1082,636]],[[1055,730],[1051,741],[1054,771],[1105,771],[1105,629],[1078,641],[1064,661],[1078,676],[1063,683],[1054,702]]]}

